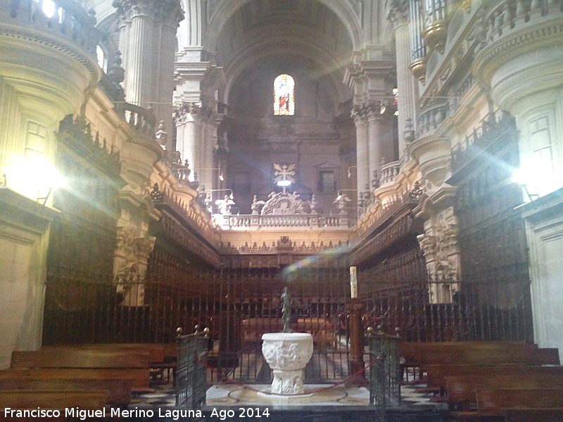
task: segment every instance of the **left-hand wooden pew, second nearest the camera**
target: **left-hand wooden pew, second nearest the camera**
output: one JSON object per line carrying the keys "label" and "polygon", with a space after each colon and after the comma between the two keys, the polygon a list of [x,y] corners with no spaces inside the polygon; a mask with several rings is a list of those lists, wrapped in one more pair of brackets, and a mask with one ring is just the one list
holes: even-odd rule
{"label": "left-hand wooden pew, second nearest the camera", "polygon": [[0,390],[75,391],[102,390],[108,392],[107,403],[127,406],[131,402],[132,379],[118,378],[0,378]]}

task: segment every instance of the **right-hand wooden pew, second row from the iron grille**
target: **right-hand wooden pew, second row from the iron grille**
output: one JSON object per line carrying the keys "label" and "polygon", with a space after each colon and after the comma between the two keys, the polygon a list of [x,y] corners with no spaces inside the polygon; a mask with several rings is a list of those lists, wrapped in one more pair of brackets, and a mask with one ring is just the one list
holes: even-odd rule
{"label": "right-hand wooden pew, second row from the iron grille", "polygon": [[446,376],[466,376],[469,374],[482,374],[485,376],[526,376],[526,373],[557,374],[563,376],[563,366],[469,366],[469,365],[431,365],[426,366],[426,383],[430,388],[445,388]]}

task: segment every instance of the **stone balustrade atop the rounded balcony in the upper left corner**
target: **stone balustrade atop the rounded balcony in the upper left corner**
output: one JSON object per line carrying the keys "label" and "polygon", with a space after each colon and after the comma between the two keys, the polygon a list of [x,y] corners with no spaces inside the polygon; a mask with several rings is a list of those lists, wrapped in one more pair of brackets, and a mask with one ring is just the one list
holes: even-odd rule
{"label": "stone balustrade atop the rounded balcony in the upper left corner", "polygon": [[100,37],[94,26],[96,18],[94,13],[85,12],[74,0],[1,1],[0,20],[56,34],[96,56]]}

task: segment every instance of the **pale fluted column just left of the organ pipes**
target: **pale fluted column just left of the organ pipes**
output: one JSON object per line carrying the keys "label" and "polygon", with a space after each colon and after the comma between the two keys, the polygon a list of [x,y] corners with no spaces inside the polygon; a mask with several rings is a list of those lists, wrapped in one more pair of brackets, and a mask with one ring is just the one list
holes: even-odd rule
{"label": "pale fluted column just left of the organ pipes", "polygon": [[[395,46],[397,60],[397,88],[398,94],[398,132],[399,158],[405,151],[406,122],[415,122],[415,81],[410,72],[411,45],[409,28],[409,2],[405,0],[392,1],[388,4],[388,19],[395,29]],[[416,130],[416,128],[412,128]]]}

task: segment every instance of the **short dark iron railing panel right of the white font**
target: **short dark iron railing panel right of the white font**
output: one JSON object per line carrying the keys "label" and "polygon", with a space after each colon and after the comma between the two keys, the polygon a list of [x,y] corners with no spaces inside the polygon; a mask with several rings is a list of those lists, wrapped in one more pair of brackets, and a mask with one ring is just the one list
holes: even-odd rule
{"label": "short dark iron railing panel right of the white font", "polygon": [[[384,399],[384,406],[398,406],[400,404],[400,356],[398,335],[388,335],[377,328],[374,333],[372,327],[367,328],[369,342],[369,359],[372,362],[382,357],[372,366],[369,376],[369,400],[376,404]],[[381,367],[379,367],[381,366]],[[383,385],[381,385],[383,383]],[[383,395],[383,396],[381,396]]]}

